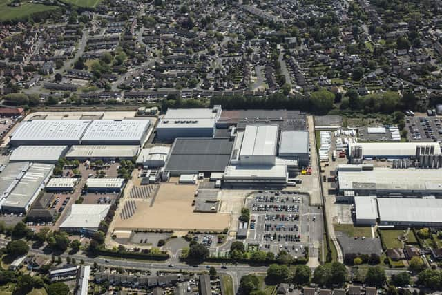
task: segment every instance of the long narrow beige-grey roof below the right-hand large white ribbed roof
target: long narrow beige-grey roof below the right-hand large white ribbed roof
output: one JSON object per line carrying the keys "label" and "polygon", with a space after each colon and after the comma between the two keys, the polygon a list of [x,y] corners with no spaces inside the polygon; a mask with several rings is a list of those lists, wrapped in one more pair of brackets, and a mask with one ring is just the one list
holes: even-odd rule
{"label": "long narrow beige-grey roof below the right-hand large white ribbed roof", "polygon": [[66,158],[132,158],[139,150],[140,146],[71,146]]}

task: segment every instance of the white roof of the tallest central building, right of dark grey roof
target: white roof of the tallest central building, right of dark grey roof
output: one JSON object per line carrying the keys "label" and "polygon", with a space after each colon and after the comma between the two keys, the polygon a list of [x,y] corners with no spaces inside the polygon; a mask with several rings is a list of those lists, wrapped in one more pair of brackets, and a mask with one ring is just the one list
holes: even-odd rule
{"label": "white roof of the tallest central building, right of dark grey roof", "polygon": [[248,125],[244,131],[240,155],[276,155],[278,126]]}

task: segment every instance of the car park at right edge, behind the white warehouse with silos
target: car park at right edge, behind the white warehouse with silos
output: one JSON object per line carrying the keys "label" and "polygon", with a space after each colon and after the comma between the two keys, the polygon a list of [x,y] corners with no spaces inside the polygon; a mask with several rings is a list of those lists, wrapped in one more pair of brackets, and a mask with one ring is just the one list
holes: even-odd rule
{"label": "car park at right edge, behind the white warehouse with silos", "polygon": [[433,142],[442,140],[441,117],[406,117],[405,129],[410,141]]}

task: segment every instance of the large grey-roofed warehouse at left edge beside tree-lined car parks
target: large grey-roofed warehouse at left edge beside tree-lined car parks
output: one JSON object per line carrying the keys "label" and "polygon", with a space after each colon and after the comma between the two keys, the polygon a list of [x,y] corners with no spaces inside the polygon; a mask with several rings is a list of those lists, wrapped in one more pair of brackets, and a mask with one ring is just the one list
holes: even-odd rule
{"label": "large grey-roofed warehouse at left edge beside tree-lined car parks", "polygon": [[11,163],[0,173],[0,205],[3,212],[26,213],[48,182],[52,164]]}

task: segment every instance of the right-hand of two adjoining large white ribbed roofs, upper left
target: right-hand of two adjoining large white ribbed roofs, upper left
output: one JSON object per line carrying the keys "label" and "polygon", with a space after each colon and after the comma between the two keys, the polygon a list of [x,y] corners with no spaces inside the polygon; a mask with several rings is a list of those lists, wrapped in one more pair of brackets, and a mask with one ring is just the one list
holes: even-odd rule
{"label": "right-hand of two adjoining large white ribbed roofs, upper left", "polygon": [[94,120],[86,129],[81,142],[142,140],[150,121],[142,120]]}

